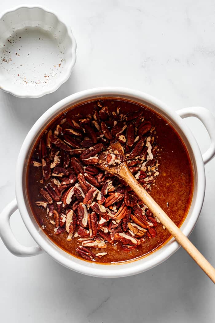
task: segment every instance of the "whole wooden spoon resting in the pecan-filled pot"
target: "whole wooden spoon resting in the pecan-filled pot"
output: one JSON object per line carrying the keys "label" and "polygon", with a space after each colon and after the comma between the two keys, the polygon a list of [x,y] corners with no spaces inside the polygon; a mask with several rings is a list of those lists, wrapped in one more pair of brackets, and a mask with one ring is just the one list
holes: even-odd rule
{"label": "whole wooden spoon resting in the pecan-filled pot", "polygon": [[100,154],[97,166],[110,174],[121,177],[215,283],[215,269],[213,266],[134,178],[128,168],[126,157],[119,141],[112,142],[109,148]]}

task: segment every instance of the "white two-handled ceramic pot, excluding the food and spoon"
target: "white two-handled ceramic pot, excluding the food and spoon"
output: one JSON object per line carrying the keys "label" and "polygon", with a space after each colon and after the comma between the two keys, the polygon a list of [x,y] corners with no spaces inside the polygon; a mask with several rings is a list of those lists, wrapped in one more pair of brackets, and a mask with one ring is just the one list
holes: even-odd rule
{"label": "white two-handled ceramic pot, excluding the food and spoon", "polygon": [[[15,191],[16,200],[8,204],[0,215],[0,236],[8,248],[8,250],[17,256],[33,256],[46,252],[54,260],[63,266],[75,270],[79,273],[97,276],[97,277],[122,277],[146,271],[154,266],[157,266],[167,258],[169,258],[178,248],[178,243],[172,238],[168,243],[163,245],[156,252],[151,253],[142,259],[128,262],[125,264],[111,264],[102,265],[94,262],[86,262],[82,259],[76,258],[64,252],[61,248],[55,245],[46,234],[39,228],[39,225],[34,219],[34,216],[27,203],[25,177],[26,177],[26,160],[34,145],[34,142],[41,130],[50,122],[56,115],[64,111],[68,107],[86,101],[88,99],[99,99],[101,97],[119,97],[131,99],[138,103],[147,105],[155,112],[163,116],[174,129],[178,132],[184,144],[189,151],[193,170],[194,170],[194,193],[191,202],[189,213],[181,225],[181,230],[186,236],[192,232],[200,211],[205,194],[205,170],[204,164],[207,163],[215,154],[215,118],[205,108],[193,107],[179,110],[177,112],[171,111],[161,101],[151,97],[148,94],[125,88],[97,88],[89,89],[82,92],[75,93],[48,109],[34,124],[27,134],[23,145],[21,147],[15,175]],[[193,137],[191,131],[183,122],[183,118],[194,116],[200,119],[205,125],[210,135],[210,148],[202,156],[199,146]],[[38,244],[37,247],[24,247],[18,243],[13,235],[9,219],[11,214],[17,209],[22,216],[24,224],[29,233]]]}

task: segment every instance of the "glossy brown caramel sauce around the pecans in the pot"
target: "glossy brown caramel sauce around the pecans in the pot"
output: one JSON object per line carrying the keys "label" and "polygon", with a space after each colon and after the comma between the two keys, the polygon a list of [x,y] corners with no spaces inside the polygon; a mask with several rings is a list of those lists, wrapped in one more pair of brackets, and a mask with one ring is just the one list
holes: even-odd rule
{"label": "glossy brown caramel sauce around the pecans in the pot", "polygon": [[[104,105],[106,105],[110,110],[115,110],[118,106],[120,106],[121,113],[132,113],[136,110],[143,109],[143,116],[145,119],[151,120],[152,125],[155,127],[157,132],[156,142],[161,148],[158,157],[158,162],[160,163],[158,167],[159,175],[157,176],[155,185],[151,186],[151,196],[169,215],[175,224],[181,226],[189,211],[192,200],[193,170],[189,154],[180,136],[166,120],[148,107],[119,98],[101,98],[100,100],[103,100]],[[90,102],[84,102],[75,107],[71,107],[67,109],[67,115],[69,114],[72,116],[76,115],[77,113],[81,113],[83,115],[92,114],[94,102],[95,100],[92,100]],[[55,119],[57,119],[59,116],[60,115],[58,115]],[[47,125],[44,131],[49,128],[49,125]],[[34,156],[34,150],[44,131],[38,137],[29,160],[32,156]],[[39,183],[42,177],[42,168],[34,167],[28,162],[26,185],[28,200],[32,213],[40,226],[43,222],[45,225],[45,229],[43,230],[44,233],[56,245],[58,245],[64,251],[77,257],[75,249],[78,245],[81,245],[80,242],[77,242],[78,238],[73,238],[72,241],[67,241],[66,238],[68,234],[66,232],[59,235],[54,234],[54,226],[49,222],[50,219],[45,217],[46,210],[35,205],[35,201],[42,200],[40,194],[38,193],[39,188],[44,186],[44,184],[42,185]],[[148,255],[152,251],[155,251],[156,248],[161,247],[161,245],[166,243],[171,237],[167,229],[163,229],[162,224],[158,224],[156,231],[157,236],[155,238],[146,238],[144,243],[130,252],[123,251],[120,243],[115,246],[107,243],[107,248],[105,249],[92,248],[91,250],[94,253],[108,253],[98,261],[99,263],[103,264],[120,263],[138,259]]]}

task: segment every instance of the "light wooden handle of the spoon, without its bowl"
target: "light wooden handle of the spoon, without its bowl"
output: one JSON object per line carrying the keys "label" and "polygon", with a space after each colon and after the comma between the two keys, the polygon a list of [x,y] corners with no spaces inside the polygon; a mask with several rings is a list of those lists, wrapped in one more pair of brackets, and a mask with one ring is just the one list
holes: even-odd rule
{"label": "light wooden handle of the spoon, without its bowl", "polygon": [[215,269],[207,259],[199,252],[199,250],[191,243],[191,241],[181,232],[176,224],[161,209],[161,207],[153,200],[151,195],[137,182],[130,170],[126,167],[120,171],[121,177],[144,202],[151,212],[161,221],[167,230],[173,235],[176,241],[187,251],[187,253],[195,260],[201,269],[215,283]]}

